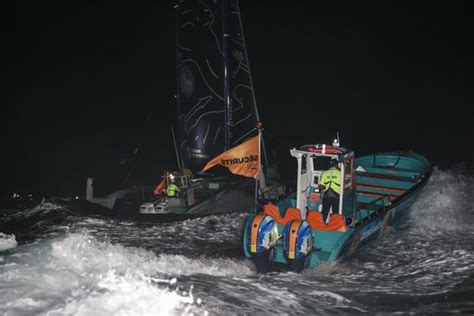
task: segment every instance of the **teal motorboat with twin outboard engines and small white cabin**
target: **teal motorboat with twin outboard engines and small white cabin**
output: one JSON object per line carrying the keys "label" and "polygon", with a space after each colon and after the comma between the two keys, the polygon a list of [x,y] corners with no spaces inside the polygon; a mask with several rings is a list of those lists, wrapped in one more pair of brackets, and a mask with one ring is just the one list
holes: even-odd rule
{"label": "teal motorboat with twin outboard engines and small white cabin", "polygon": [[[266,272],[284,265],[295,271],[352,255],[384,234],[416,200],[431,175],[431,164],[415,152],[387,152],[354,157],[332,145],[291,149],[297,187],[277,204],[250,215],[243,250]],[[322,216],[321,176],[336,159],[341,172],[338,211]]]}

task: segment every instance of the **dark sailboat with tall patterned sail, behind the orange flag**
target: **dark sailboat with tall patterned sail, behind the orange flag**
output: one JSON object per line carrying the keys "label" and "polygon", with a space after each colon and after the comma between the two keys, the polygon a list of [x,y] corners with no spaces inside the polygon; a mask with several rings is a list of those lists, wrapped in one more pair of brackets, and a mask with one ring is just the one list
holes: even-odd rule
{"label": "dark sailboat with tall patterned sail, behind the orange flag", "polygon": [[[259,173],[258,183],[252,177],[225,170],[202,172],[219,154],[257,135],[260,139],[260,118],[238,1],[180,0],[176,12],[178,136],[175,138],[173,132],[173,141],[178,168],[164,172],[159,185],[142,194],[146,200],[136,206],[135,212],[192,214],[215,212],[229,205],[233,211],[236,205],[238,210],[248,211],[254,208],[255,197],[277,199],[285,186],[277,178],[265,177],[264,172]],[[267,162],[265,146],[259,149],[259,168],[277,174]],[[171,186],[176,187],[173,196],[167,192]],[[136,190],[94,198],[89,179],[87,192],[89,201],[115,209]]]}

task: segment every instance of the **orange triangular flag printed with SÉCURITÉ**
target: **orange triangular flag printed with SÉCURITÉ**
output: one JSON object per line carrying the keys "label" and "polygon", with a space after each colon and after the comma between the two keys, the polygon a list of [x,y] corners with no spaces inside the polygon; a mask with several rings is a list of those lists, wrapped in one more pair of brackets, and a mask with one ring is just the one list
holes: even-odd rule
{"label": "orange triangular flag printed with S\u00c9CURIT\u00c9", "polygon": [[233,174],[257,178],[260,174],[260,135],[223,152],[209,161],[202,171],[215,165],[224,166]]}

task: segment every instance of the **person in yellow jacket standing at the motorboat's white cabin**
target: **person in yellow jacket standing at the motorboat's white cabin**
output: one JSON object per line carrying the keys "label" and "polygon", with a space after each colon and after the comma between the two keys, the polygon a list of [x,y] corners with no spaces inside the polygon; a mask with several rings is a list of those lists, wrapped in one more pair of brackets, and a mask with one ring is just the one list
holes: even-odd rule
{"label": "person in yellow jacket standing at the motorboat's white cabin", "polygon": [[324,171],[321,176],[320,188],[323,193],[323,220],[329,222],[329,212],[339,212],[339,196],[341,194],[341,171],[338,168],[337,160],[331,159],[331,167]]}

